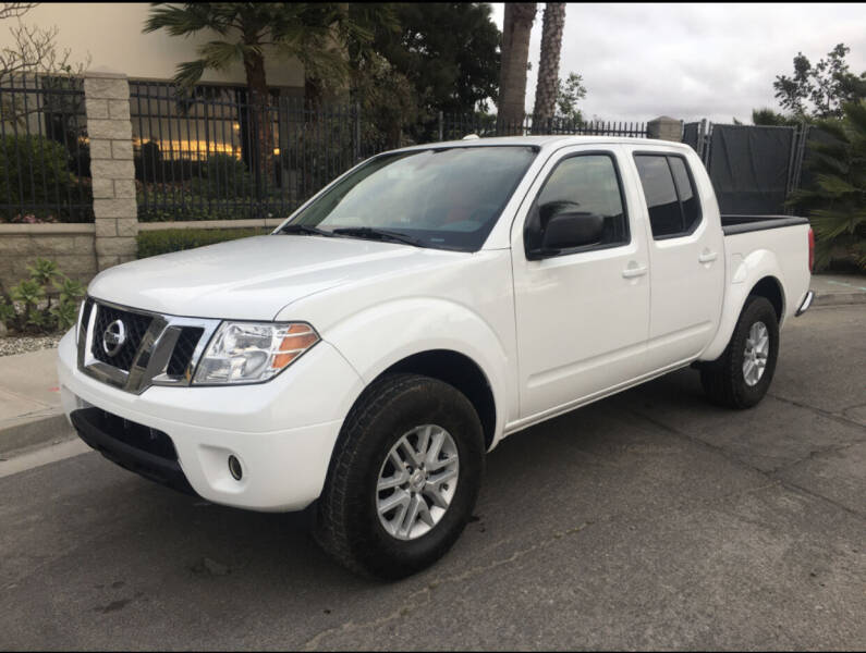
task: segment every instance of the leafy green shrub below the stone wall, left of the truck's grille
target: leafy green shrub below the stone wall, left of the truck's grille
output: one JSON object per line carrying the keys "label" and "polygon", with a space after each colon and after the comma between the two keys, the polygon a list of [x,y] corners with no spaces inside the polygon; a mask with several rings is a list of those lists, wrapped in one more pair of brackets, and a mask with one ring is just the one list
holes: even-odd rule
{"label": "leafy green shrub below the stone wall, left of the truck's grille", "polygon": [[8,293],[0,284],[0,322],[19,333],[52,333],[75,324],[84,286],[63,274],[57,263],[37,258],[29,279]]}

